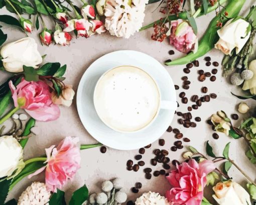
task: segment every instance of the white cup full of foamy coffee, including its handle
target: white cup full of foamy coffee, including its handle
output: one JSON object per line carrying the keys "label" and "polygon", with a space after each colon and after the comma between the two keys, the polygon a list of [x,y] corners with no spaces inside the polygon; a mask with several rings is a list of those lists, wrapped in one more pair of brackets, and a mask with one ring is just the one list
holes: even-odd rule
{"label": "white cup full of foamy coffee, including its handle", "polygon": [[175,111],[177,108],[177,102],[161,99],[161,91],[152,76],[134,66],[106,71],[97,81],[93,102],[102,122],[122,133],[147,128],[160,109]]}

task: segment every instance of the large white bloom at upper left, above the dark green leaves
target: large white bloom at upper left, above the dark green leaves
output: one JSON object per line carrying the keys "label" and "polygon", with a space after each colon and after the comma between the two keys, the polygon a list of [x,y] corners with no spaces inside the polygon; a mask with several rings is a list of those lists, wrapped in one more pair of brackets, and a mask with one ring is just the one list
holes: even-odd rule
{"label": "large white bloom at upper left, above the dark green leaves", "polygon": [[43,61],[36,41],[29,37],[3,46],[0,54],[4,68],[12,73],[22,72],[23,65],[38,68]]}

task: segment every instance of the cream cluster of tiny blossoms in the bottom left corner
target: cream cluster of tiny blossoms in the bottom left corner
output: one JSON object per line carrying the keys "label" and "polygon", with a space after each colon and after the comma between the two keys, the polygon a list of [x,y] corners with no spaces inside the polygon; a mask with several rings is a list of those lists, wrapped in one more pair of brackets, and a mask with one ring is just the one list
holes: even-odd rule
{"label": "cream cluster of tiny blossoms in the bottom left corner", "polygon": [[50,196],[45,183],[35,181],[22,192],[18,205],[49,205]]}

